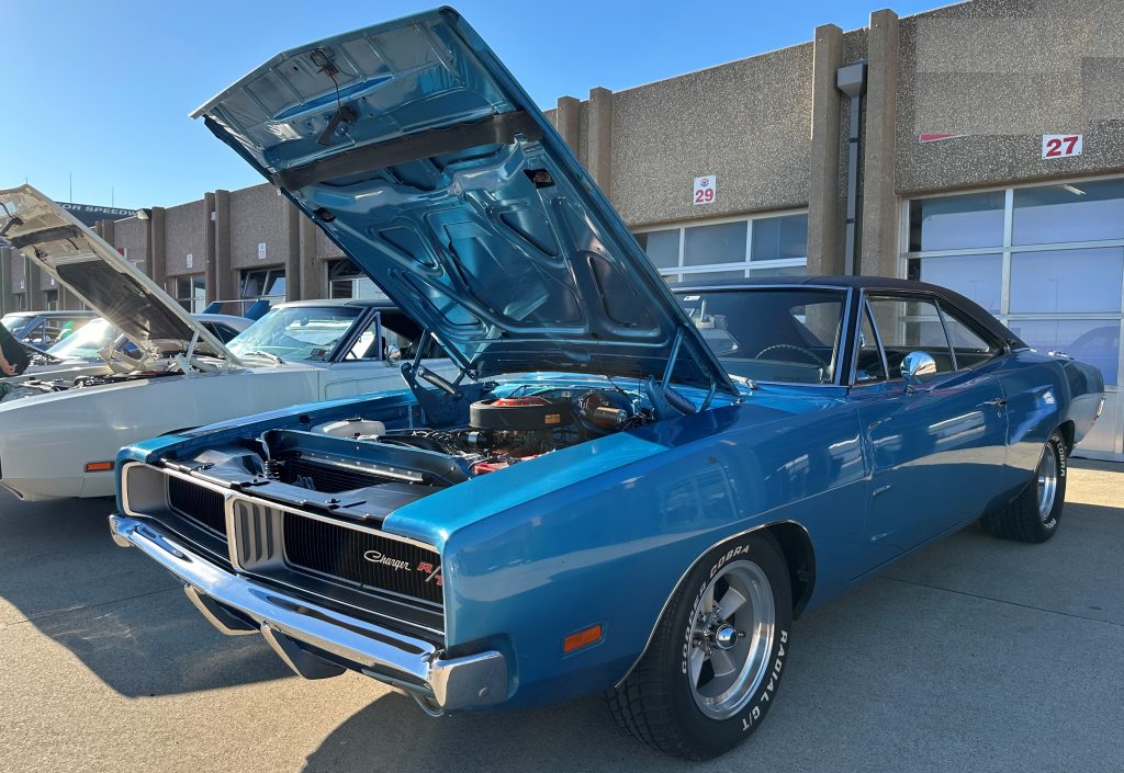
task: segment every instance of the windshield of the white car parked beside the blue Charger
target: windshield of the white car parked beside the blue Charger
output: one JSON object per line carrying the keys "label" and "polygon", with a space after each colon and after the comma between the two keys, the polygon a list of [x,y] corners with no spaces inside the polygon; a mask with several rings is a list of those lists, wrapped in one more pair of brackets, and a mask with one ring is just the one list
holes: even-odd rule
{"label": "windshield of the white car parked beside the blue Charger", "polygon": [[319,361],[339,343],[360,309],[351,306],[292,306],[272,309],[227,344],[237,356],[273,355]]}

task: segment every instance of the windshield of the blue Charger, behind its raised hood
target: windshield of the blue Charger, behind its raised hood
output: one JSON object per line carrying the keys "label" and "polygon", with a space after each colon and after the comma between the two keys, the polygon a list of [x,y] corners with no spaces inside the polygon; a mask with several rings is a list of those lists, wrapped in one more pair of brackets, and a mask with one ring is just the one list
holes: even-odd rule
{"label": "windshield of the blue Charger, behind its raised hood", "polygon": [[677,295],[728,373],[830,384],[846,297],[839,290],[749,288]]}

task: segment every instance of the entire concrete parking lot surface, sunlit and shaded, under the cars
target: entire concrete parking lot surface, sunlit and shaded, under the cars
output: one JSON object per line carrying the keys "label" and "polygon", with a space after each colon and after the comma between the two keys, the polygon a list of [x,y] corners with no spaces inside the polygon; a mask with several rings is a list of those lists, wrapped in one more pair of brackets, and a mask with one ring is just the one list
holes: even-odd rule
{"label": "entire concrete parking lot surface, sunlit and shaded, under the cars", "polygon": [[2,771],[1120,771],[1124,465],[1075,461],[1058,536],[970,527],[808,613],[747,744],[694,765],[599,698],[430,719],[353,674],[290,675],[136,551],[107,500],[0,494]]}

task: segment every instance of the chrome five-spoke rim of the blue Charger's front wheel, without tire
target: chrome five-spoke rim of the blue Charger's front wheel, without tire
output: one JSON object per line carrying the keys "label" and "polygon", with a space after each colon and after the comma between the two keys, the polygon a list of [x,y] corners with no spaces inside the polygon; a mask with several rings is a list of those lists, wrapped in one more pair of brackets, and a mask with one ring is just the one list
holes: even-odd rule
{"label": "chrome five-spoke rim of the blue Charger's front wheel, without tire", "polygon": [[769,671],[777,627],[772,588],[751,561],[715,574],[695,610],[687,680],[708,717],[728,719],[753,697]]}

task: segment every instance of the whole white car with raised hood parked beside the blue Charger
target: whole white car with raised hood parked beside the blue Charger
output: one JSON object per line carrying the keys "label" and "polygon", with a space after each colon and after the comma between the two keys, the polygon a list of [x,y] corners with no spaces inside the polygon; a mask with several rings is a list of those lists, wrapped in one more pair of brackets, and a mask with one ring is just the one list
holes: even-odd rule
{"label": "whole white car with raised hood parked beside the blue Charger", "polygon": [[4,238],[138,351],[110,358],[111,372],[40,380],[40,393],[0,401],[0,485],[20,499],[109,497],[117,451],[137,440],[401,389],[399,358],[437,385],[459,372],[433,356],[436,342],[415,322],[378,301],[284,303],[227,346],[30,185],[0,190],[0,204]]}

